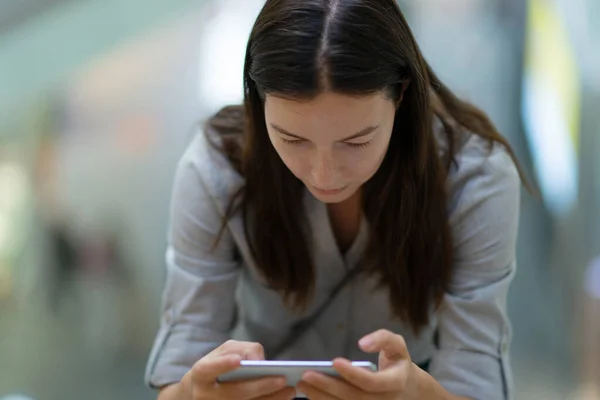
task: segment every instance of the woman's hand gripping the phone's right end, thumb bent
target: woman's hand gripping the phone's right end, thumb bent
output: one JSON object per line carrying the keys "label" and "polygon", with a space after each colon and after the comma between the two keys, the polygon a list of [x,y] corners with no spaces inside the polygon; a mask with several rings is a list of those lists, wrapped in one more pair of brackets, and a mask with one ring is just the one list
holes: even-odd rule
{"label": "woman's hand gripping the phone's right end, thumb bent", "polygon": [[413,364],[400,335],[380,330],[359,341],[366,353],[379,352],[379,371],[354,367],[345,359],[334,360],[343,379],[309,371],[297,388],[311,400],[412,400],[418,398],[419,367]]}

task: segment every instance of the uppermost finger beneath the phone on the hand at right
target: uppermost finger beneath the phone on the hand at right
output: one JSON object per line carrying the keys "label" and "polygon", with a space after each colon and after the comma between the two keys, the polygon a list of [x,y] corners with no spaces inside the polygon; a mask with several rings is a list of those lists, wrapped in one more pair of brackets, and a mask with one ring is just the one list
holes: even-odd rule
{"label": "uppermost finger beneath the phone on the hand at right", "polygon": [[333,367],[344,380],[352,382],[352,385],[367,393],[401,390],[405,382],[404,369],[400,367],[373,372],[366,368],[355,367],[350,361],[344,359],[334,360]]}

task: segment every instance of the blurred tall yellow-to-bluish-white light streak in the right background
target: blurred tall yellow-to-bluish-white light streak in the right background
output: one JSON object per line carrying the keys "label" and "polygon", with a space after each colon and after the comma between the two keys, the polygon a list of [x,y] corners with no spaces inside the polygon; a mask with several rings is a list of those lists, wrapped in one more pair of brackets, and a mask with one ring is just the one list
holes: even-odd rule
{"label": "blurred tall yellow-to-bluish-white light streak in the right background", "polygon": [[556,4],[529,0],[523,119],[540,189],[557,216],[578,194],[580,77],[564,16]]}

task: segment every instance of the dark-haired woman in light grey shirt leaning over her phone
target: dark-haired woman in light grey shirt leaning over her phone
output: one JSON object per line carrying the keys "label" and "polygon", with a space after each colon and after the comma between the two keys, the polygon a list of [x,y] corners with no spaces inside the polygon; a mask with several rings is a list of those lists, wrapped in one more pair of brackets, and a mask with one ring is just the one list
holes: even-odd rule
{"label": "dark-haired woman in light grey shirt leaning over her phone", "polygon": [[345,357],[304,376],[311,399],[509,398],[518,169],[396,3],[267,0],[244,86],[178,167],[159,399],[293,398],[216,383],[265,357]]}

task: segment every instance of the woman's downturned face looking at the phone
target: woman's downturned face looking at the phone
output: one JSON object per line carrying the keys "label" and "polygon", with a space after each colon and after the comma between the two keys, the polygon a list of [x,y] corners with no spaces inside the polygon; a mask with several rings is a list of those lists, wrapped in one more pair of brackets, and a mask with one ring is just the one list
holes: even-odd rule
{"label": "woman's downturned face looking at the phone", "polygon": [[310,101],[267,95],[271,143],[292,173],[324,203],[350,198],[385,157],[396,109],[385,94],[325,92]]}

